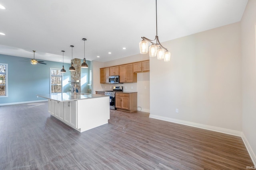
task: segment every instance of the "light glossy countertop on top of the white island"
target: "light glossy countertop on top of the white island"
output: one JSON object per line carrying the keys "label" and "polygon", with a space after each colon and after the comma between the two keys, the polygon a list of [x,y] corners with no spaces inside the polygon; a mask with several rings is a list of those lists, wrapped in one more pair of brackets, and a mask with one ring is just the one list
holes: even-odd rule
{"label": "light glossy countertop on top of the white island", "polygon": [[68,102],[73,100],[84,100],[84,99],[92,99],[92,98],[106,98],[109,96],[101,95],[101,94],[88,94],[88,93],[74,93],[66,92],[66,93],[52,93],[52,94],[37,94],[36,96],[56,100],[58,102]]}

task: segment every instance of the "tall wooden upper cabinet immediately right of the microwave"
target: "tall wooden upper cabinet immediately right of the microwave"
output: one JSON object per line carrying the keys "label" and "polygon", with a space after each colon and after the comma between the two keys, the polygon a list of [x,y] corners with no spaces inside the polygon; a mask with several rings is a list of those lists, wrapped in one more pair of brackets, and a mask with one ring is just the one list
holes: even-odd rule
{"label": "tall wooden upper cabinet immediately right of the microwave", "polygon": [[137,82],[137,74],[134,74],[132,64],[119,66],[120,82]]}

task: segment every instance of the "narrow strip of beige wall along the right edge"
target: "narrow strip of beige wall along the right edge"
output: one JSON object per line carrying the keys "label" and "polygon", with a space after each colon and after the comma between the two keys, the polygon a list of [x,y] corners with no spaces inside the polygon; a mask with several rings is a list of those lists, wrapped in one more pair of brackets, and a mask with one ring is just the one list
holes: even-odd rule
{"label": "narrow strip of beige wall along the right edge", "polygon": [[[256,164],[256,1],[249,0],[241,20],[242,131]],[[253,153],[252,153],[253,154]]]}

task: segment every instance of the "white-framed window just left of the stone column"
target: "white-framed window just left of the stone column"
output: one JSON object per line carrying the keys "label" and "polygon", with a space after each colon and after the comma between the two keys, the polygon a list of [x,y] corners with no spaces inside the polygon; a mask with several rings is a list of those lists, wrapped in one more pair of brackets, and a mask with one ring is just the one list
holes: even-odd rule
{"label": "white-framed window just left of the stone column", "polygon": [[51,92],[50,93],[61,93],[62,92],[62,73],[60,69],[51,68]]}

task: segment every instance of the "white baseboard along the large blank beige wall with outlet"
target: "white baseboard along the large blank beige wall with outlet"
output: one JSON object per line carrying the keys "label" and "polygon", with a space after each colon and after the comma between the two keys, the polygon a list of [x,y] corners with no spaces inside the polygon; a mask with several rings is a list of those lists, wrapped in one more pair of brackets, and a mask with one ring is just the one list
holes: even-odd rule
{"label": "white baseboard along the large blank beige wall with outlet", "polygon": [[190,121],[183,121],[183,120],[179,120],[179,119],[172,119],[172,118],[169,118],[169,117],[162,117],[162,116],[158,116],[158,115],[151,115],[150,114],[149,117],[154,118],[154,119],[164,120],[164,121],[170,121],[170,122],[178,123],[178,124],[182,124],[182,125],[198,127],[198,128],[206,129],[206,130],[210,130],[210,131],[225,133],[225,134],[228,134],[228,135],[234,135],[234,136],[238,136],[238,137],[241,137],[241,133],[242,133],[240,131],[234,131],[234,130],[225,129],[225,128],[221,128],[221,127],[203,125],[203,124],[200,124],[200,123],[193,123],[193,122],[190,122]]}

